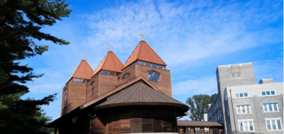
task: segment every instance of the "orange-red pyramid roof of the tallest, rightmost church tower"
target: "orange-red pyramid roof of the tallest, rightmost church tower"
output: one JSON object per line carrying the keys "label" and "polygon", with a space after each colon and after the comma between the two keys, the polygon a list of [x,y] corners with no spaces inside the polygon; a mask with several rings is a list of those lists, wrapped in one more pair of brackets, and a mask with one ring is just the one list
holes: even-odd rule
{"label": "orange-red pyramid roof of the tallest, rightmost church tower", "polygon": [[157,53],[144,41],[141,40],[136,46],[122,69],[132,64],[136,60],[141,60],[150,63],[156,63],[166,66],[166,63],[157,55]]}

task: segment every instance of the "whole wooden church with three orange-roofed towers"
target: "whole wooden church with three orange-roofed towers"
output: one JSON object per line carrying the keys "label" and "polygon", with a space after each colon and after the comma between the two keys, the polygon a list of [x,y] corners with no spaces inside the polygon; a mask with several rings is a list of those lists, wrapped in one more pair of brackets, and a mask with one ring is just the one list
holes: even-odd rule
{"label": "whole wooden church with three orange-roofed towers", "polygon": [[177,133],[188,106],[171,97],[170,70],[142,39],[123,65],[106,53],[95,71],[82,60],[62,89],[54,133]]}

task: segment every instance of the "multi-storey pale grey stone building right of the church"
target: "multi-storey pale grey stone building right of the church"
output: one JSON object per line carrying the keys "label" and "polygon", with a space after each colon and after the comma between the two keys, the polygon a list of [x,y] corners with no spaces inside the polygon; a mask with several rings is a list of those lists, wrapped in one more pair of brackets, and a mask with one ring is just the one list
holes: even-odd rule
{"label": "multi-storey pale grey stone building right of the church", "polygon": [[[284,83],[273,83],[272,79],[261,79],[259,85],[256,84],[252,63],[218,66],[216,78],[218,93],[209,106],[209,121],[224,124],[226,133],[232,131],[284,133],[281,131],[283,130],[281,120],[283,112],[281,111],[283,111]],[[266,91],[270,95],[261,95]],[[264,111],[264,106],[268,105],[267,109],[270,109],[274,108],[275,104],[277,111],[272,111],[274,116],[271,116],[270,111]],[[279,127],[274,129],[274,124],[278,122],[280,122]]]}

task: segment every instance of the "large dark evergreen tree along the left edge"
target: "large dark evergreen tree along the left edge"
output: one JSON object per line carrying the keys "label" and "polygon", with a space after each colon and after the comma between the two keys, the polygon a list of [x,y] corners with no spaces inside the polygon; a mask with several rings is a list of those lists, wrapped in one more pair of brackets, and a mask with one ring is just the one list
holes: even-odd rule
{"label": "large dark evergreen tree along the left edge", "polygon": [[44,126],[49,117],[40,105],[54,101],[56,94],[39,100],[20,97],[29,92],[25,83],[35,75],[33,68],[20,60],[41,55],[48,50],[34,40],[49,40],[65,45],[69,42],[41,32],[62,17],[68,17],[69,4],[61,0],[0,0],[0,131],[1,133],[49,133]]}

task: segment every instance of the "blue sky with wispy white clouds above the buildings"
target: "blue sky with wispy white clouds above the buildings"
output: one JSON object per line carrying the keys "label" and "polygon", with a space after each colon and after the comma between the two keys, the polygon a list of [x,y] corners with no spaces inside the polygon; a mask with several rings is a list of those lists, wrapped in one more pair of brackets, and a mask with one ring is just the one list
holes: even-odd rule
{"label": "blue sky with wispy white clouds above the buildings", "polygon": [[80,53],[95,70],[108,51],[106,44],[125,63],[145,41],[171,70],[173,97],[185,102],[194,94],[217,92],[218,65],[253,62],[256,82],[274,78],[284,82],[284,3],[276,1],[67,1],[72,9],[43,32],[70,41],[49,45],[42,56],[25,59],[35,74],[27,83],[35,99],[59,93],[42,106],[53,120],[60,117],[62,88],[80,63]]}

